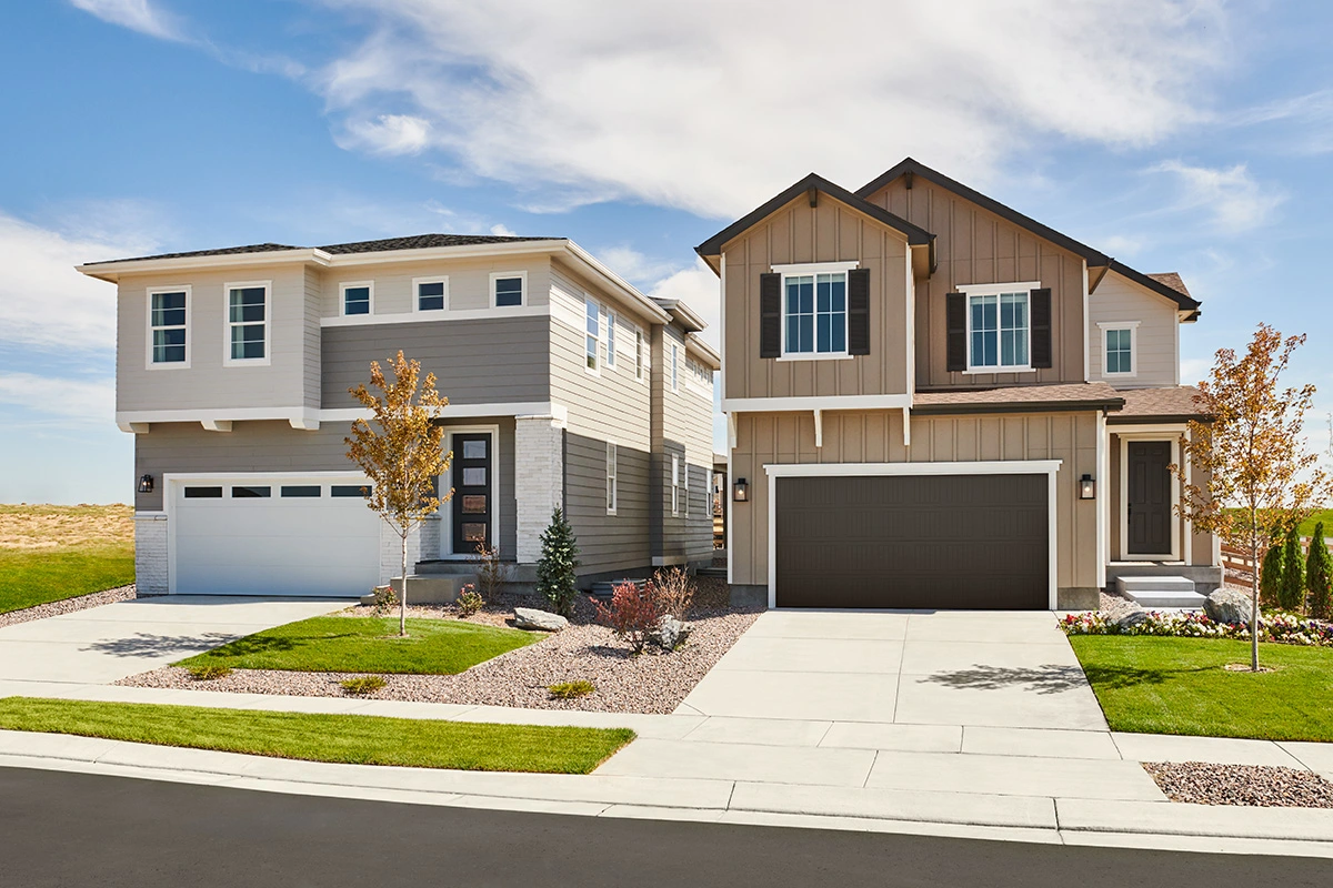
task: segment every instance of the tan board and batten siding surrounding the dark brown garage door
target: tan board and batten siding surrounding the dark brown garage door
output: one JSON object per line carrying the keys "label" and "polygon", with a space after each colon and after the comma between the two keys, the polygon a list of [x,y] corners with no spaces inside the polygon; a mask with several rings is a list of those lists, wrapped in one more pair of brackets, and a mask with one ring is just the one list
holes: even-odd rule
{"label": "tan board and batten siding surrounding the dark brown garage door", "polygon": [[[913,417],[912,446],[902,446],[897,410],[824,413],[824,446],[814,446],[808,413],[742,413],[736,417],[733,478],[749,481],[750,499],[732,503],[728,537],[732,582],[768,583],[769,463],[989,462],[1061,459],[1056,477],[1056,586],[1097,586],[1097,505],[1078,499],[1077,478],[1097,473],[1097,415]],[[968,541],[960,538],[958,546]]]}

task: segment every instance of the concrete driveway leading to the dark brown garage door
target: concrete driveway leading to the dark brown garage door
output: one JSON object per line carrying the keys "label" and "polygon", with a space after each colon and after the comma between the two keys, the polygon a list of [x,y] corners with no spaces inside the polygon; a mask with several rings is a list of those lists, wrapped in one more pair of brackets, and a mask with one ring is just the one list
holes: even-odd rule
{"label": "concrete driveway leading to the dark brown garage door", "polygon": [[1108,730],[1049,612],[769,611],[677,712],[864,735],[922,726],[922,738],[936,734],[925,726]]}

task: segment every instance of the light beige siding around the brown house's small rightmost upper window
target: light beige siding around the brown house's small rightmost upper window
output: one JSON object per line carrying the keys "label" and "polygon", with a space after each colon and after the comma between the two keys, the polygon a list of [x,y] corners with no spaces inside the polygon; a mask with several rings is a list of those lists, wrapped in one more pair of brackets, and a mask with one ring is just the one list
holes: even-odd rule
{"label": "light beige siding around the brown house's small rightmost upper window", "polygon": [[[1088,297],[1088,369],[1118,389],[1180,385],[1177,305],[1116,272]],[[1137,321],[1133,375],[1104,375],[1106,335],[1101,324]]]}

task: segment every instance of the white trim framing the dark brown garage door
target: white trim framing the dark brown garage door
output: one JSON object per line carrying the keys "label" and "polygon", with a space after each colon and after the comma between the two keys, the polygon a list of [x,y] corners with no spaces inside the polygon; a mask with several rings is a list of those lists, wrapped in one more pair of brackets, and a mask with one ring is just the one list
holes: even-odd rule
{"label": "white trim framing the dark brown garage door", "polygon": [[1004,459],[984,462],[825,462],[825,463],[765,463],[768,475],[768,606],[777,607],[777,479],[778,478],[834,478],[882,475],[1046,475],[1046,509],[1049,529],[1046,537],[1048,604],[1056,610],[1058,558],[1058,525],[1056,519],[1056,478],[1062,459]]}

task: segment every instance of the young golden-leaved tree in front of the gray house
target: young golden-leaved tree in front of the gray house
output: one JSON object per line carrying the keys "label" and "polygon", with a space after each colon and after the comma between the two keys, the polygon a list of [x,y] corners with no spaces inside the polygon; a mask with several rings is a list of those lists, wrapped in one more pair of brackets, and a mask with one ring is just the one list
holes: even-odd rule
{"label": "young golden-leaved tree in front of the gray house", "polygon": [[[420,361],[399,351],[389,359],[393,379],[379,361],[371,361],[371,387],[349,389],[371,410],[371,421],[352,423],[344,438],[347,457],[371,479],[369,505],[399,534],[403,553],[403,590],[399,595],[399,635],[408,634],[408,535],[440,507],[435,479],[449,470],[452,454],[441,446],[444,429],[435,422],[448,398],[435,390],[435,374],[421,379]],[[448,501],[453,491],[444,494]]]}

